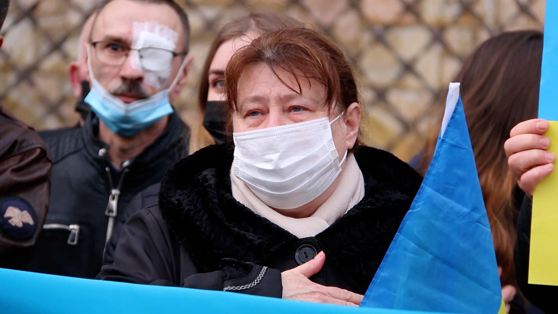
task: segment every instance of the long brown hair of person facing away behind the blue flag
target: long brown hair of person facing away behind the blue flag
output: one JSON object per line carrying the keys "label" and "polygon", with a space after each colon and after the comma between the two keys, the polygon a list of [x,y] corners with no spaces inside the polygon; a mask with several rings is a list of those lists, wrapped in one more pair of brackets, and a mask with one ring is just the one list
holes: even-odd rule
{"label": "long brown hair of person facing away behind the blue flag", "polygon": [[[461,83],[461,99],[496,259],[502,268],[502,287],[517,286],[513,248],[523,199],[517,180],[508,169],[503,147],[512,127],[537,116],[541,58],[541,32],[504,32],[480,45],[453,80]],[[434,154],[439,130],[440,124],[432,128],[427,138],[417,167],[422,174],[426,173]]]}

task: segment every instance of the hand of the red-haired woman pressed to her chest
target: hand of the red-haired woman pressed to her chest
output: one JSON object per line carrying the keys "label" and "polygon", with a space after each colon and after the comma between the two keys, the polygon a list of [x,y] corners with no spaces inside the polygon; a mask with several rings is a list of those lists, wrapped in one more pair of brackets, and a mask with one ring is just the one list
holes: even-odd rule
{"label": "hand of the red-haired woman pressed to her chest", "polygon": [[308,279],[320,271],[324,266],[324,262],[325,253],[321,251],[314,259],[307,261],[299,267],[282,272],[283,299],[348,306],[360,305],[364,297],[361,294],[337,287],[322,286]]}

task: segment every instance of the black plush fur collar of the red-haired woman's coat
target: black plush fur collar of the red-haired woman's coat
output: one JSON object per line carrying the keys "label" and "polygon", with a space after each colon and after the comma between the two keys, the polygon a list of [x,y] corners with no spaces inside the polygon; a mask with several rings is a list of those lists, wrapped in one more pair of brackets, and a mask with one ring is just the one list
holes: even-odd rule
{"label": "black plush fur collar of the red-haired woman's coat", "polygon": [[[422,177],[383,150],[362,147],[355,158],[364,175],[364,198],[316,239],[328,259],[365,291]],[[233,198],[232,161],[227,144],[209,146],[178,161],[161,182],[162,215],[200,272],[218,269],[222,258],[258,264],[297,240]]]}

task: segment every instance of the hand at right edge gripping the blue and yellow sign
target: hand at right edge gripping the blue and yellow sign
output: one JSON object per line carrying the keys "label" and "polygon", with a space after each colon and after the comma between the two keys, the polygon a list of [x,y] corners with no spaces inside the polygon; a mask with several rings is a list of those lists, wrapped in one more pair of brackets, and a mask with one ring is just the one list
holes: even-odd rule
{"label": "hand at right edge gripping the blue and yellow sign", "polygon": [[519,188],[529,197],[537,184],[554,170],[556,155],[546,151],[550,146],[548,137],[549,122],[531,119],[518,123],[509,132],[510,138],[504,143],[508,165],[517,178]]}

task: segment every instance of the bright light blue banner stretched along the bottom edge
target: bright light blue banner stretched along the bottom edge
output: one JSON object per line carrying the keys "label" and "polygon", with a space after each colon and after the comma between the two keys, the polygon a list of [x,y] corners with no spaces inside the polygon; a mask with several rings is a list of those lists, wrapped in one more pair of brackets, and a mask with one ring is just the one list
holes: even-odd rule
{"label": "bright light blue banner stretched along the bottom edge", "polygon": [[[0,269],[0,313],[429,314]],[[430,313],[434,314],[434,313]]]}

